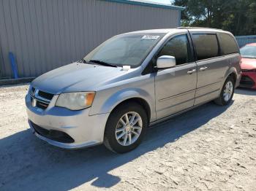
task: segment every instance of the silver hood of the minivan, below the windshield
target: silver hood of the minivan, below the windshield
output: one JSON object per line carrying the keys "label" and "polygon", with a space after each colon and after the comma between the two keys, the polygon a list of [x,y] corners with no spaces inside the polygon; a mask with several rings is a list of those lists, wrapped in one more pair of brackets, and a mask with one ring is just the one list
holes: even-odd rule
{"label": "silver hood of the minivan, below the windshield", "polygon": [[76,91],[94,91],[101,85],[127,74],[122,68],[97,66],[86,63],[71,63],[48,71],[31,82],[39,90],[59,94]]}

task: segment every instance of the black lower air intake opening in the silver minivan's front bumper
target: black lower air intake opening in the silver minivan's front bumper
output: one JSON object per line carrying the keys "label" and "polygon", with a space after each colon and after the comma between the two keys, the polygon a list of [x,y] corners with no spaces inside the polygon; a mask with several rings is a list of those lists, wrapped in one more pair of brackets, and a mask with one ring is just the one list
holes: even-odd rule
{"label": "black lower air intake opening in the silver minivan's front bumper", "polygon": [[44,136],[53,141],[59,141],[61,143],[73,143],[75,142],[71,136],[67,133],[62,132],[61,130],[48,130],[40,127],[39,125],[34,124],[34,122],[29,121],[34,128],[34,130],[40,135]]}

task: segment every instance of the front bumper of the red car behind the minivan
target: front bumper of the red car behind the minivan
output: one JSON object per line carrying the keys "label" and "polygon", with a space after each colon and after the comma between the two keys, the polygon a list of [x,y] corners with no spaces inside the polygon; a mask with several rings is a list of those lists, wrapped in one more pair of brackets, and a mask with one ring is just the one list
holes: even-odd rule
{"label": "front bumper of the red car behind the minivan", "polygon": [[256,89],[256,72],[255,71],[243,71],[239,86]]}

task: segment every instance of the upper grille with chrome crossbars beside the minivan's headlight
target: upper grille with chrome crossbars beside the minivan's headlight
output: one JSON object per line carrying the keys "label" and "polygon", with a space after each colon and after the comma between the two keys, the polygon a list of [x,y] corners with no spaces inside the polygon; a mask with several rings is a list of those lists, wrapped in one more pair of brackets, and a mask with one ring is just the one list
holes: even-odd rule
{"label": "upper grille with chrome crossbars beside the minivan's headlight", "polygon": [[50,104],[50,101],[54,96],[51,93],[38,90],[37,88],[34,88],[34,87],[31,87],[30,95],[31,95],[32,106],[36,106],[40,109],[47,109]]}

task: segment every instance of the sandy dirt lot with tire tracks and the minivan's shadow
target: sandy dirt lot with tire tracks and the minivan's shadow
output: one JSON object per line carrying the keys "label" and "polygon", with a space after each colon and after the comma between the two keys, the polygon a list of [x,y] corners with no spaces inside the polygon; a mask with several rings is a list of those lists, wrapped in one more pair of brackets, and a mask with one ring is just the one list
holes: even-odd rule
{"label": "sandy dirt lot with tire tracks and the minivan's shadow", "polygon": [[64,150],[31,134],[28,86],[0,87],[0,190],[256,190],[256,91],[150,128],[124,155]]}

